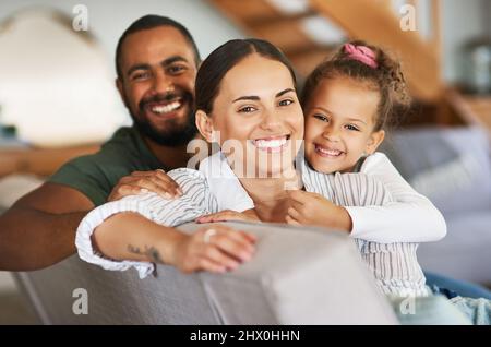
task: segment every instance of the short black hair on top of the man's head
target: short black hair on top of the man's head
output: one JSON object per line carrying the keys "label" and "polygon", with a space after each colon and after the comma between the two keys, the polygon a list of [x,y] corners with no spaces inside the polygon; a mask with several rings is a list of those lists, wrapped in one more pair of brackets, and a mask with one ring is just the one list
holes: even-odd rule
{"label": "short black hair on top of the man's head", "polygon": [[122,79],[122,71],[120,67],[120,58],[121,58],[121,47],[127,38],[128,35],[151,29],[158,26],[171,26],[177,28],[188,40],[188,43],[191,45],[194,51],[194,60],[196,65],[200,64],[201,58],[200,58],[200,51],[197,50],[196,43],[194,43],[193,37],[191,36],[191,33],[181,24],[176,22],[175,20],[171,20],[167,16],[156,15],[156,14],[147,14],[142,16],[141,19],[134,21],[121,35],[118,41],[118,46],[116,46],[116,71],[118,73],[118,77]]}

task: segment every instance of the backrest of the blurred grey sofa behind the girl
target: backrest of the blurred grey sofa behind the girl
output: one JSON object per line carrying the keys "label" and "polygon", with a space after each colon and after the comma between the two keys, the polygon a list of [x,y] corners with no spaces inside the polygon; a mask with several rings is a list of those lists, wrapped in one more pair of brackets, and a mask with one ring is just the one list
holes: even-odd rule
{"label": "backrest of the blurred grey sofa behind the girl", "polygon": [[418,128],[390,133],[380,151],[447,217],[490,210],[489,140],[481,128]]}

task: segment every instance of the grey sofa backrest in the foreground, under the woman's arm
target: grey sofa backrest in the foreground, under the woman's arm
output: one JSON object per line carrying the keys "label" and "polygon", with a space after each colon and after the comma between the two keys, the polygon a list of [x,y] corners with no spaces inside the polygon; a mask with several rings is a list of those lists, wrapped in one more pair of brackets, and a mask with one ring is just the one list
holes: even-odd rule
{"label": "grey sofa backrest in the foreground, under the woman's arm", "polygon": [[[46,324],[397,324],[347,235],[226,224],[259,241],[250,262],[224,275],[158,265],[139,279],[133,270],[104,271],[73,255],[17,279]],[[87,314],[75,314],[84,292]]]}

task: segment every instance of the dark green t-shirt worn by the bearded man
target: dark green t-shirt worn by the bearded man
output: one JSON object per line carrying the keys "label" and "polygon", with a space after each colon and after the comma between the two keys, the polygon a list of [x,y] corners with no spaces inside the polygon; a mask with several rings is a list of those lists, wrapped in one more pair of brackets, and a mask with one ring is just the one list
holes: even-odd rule
{"label": "dark green t-shirt worn by the bearded man", "polygon": [[120,128],[99,152],[70,160],[48,181],[74,188],[98,206],[107,201],[121,177],[158,168],[164,167],[136,129]]}

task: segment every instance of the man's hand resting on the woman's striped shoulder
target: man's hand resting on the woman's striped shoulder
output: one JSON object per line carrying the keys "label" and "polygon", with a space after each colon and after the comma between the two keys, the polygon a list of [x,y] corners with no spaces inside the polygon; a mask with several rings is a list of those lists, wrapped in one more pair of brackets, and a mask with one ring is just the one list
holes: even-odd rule
{"label": "man's hand resting on the woman's striped shoulder", "polygon": [[107,201],[119,200],[128,195],[154,192],[165,199],[182,195],[181,188],[163,169],[154,171],[134,171],[121,178],[112,189]]}

